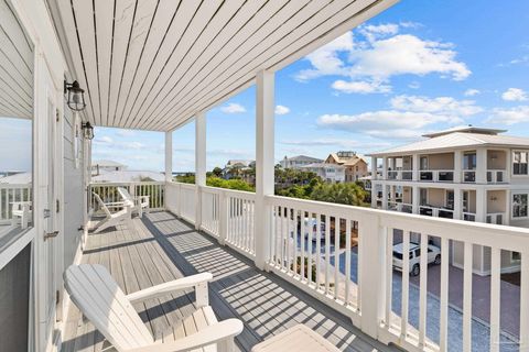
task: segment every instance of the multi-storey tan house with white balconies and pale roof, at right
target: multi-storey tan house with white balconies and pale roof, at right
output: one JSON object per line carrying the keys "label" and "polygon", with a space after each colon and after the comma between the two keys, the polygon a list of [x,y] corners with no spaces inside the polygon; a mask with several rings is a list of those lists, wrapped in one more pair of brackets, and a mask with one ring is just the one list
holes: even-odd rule
{"label": "multi-storey tan house with white balconies and pale roof, at right", "polygon": [[[371,179],[371,206],[423,216],[529,227],[529,139],[505,130],[464,127],[425,134],[423,141],[373,153],[381,176]],[[454,244],[453,264],[463,265]],[[474,271],[490,271],[490,249],[474,248]],[[520,254],[501,254],[504,272]]]}

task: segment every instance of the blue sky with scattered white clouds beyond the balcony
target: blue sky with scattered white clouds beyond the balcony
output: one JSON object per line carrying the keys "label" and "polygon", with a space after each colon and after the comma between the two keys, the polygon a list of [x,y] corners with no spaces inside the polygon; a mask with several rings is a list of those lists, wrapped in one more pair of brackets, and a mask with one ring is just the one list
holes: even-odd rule
{"label": "blue sky with scattered white clouds beyond the balcony", "polygon": [[[276,75],[276,158],[361,154],[462,124],[529,138],[529,2],[403,0]],[[207,113],[207,166],[255,156],[255,87]],[[163,169],[163,133],[96,129],[94,158]],[[194,123],[174,132],[194,169]]]}

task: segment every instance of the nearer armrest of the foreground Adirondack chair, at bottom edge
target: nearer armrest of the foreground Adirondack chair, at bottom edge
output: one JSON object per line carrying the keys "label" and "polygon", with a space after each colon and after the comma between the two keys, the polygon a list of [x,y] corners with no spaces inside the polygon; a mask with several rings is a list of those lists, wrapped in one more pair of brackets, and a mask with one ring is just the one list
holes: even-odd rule
{"label": "nearer armrest of the foreground Adirondack chair, at bottom edge", "polygon": [[180,352],[195,350],[233,339],[242,331],[242,322],[239,319],[227,319],[174,342],[151,344],[128,352]]}

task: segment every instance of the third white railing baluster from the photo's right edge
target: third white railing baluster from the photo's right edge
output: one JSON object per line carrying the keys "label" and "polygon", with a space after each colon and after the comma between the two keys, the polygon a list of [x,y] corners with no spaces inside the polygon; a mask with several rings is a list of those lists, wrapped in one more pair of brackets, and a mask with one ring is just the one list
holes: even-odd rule
{"label": "third white railing baluster from the photo's right edge", "polygon": [[472,262],[473,244],[465,242],[463,272],[463,351],[472,351]]}

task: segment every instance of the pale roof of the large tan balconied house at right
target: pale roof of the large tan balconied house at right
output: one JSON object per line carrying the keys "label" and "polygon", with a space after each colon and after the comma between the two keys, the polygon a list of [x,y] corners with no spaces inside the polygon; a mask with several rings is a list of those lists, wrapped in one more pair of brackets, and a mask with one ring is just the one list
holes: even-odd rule
{"label": "pale roof of the large tan balconied house at right", "polygon": [[371,156],[382,155],[402,155],[414,152],[450,151],[454,148],[476,147],[476,146],[497,146],[497,147],[529,147],[529,139],[497,135],[486,133],[452,132],[415,143],[397,146],[390,150],[371,153]]}

